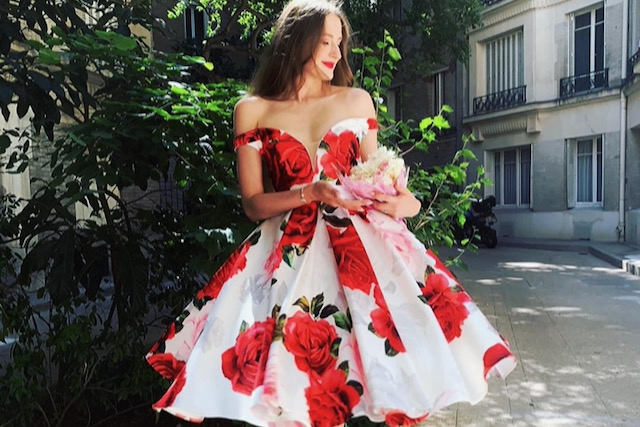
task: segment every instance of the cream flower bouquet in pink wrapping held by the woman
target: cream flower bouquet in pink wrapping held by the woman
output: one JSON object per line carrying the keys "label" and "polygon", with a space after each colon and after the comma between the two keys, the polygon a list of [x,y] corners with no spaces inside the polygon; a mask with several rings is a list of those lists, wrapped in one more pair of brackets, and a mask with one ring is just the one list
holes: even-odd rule
{"label": "cream flower bouquet in pink wrapping held by the woman", "polygon": [[396,195],[396,183],[407,185],[408,170],[402,157],[384,146],[378,147],[366,162],[351,168],[349,175],[340,182],[349,193],[358,199],[373,199],[375,193]]}

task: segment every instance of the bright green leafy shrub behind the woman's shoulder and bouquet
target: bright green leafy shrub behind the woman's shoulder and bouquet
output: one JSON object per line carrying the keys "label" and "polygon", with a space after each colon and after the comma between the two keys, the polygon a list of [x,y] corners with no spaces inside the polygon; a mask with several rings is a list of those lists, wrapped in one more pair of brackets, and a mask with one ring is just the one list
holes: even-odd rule
{"label": "bright green leafy shrub behind the woman's shoulder and bouquet", "polygon": [[[395,148],[403,156],[414,150],[428,152],[431,144],[436,142],[438,132],[449,129],[446,116],[453,112],[451,107],[445,105],[440,114],[425,117],[418,123],[413,120],[395,120],[388,114],[384,102],[397,66],[402,62],[393,37],[385,31],[383,39],[376,42],[373,48],[356,48],[354,53],[360,64],[355,72],[356,83],[369,91],[376,101],[378,122],[381,125],[379,142]],[[456,241],[453,232],[455,224],[464,224],[465,213],[481,186],[490,183],[484,178],[482,166],[475,170],[475,180],[468,176],[470,163],[476,160],[473,152],[466,148],[471,139],[472,136],[463,135],[462,149],[446,165],[437,166],[429,172],[421,169],[419,164],[411,165],[409,186],[422,201],[422,210],[408,224],[416,236],[434,251],[454,244],[476,249],[474,241]],[[464,267],[462,253],[460,251],[447,262]]]}

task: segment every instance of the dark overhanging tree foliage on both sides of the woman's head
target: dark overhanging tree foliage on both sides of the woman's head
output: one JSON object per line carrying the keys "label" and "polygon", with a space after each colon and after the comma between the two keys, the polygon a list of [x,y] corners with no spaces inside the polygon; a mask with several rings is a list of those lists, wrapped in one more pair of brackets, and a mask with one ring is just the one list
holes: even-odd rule
{"label": "dark overhanging tree foliage on both sides of the woman's head", "polygon": [[[174,2],[170,18],[180,17],[189,6],[209,18],[207,36],[199,47],[203,56],[217,65],[218,75],[248,78],[287,0]],[[356,44],[374,46],[385,29],[405,56],[412,58],[403,70],[406,77],[428,74],[434,66],[452,60],[466,60],[467,35],[480,25],[483,7],[481,0],[344,1]]]}

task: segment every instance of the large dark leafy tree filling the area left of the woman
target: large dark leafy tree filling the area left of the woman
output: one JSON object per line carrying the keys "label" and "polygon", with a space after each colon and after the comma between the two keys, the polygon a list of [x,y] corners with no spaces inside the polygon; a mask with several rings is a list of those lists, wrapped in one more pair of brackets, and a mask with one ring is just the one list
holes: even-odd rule
{"label": "large dark leafy tree filling the area left of the woman", "polygon": [[[24,171],[39,145],[51,171],[20,209],[2,200],[0,243],[26,253],[16,274],[0,270],[0,340],[18,338],[0,366],[3,423],[81,425],[148,405],[160,384],[141,358],[150,326],[250,226],[230,147],[244,85],[194,82],[210,64],[150,49],[130,30],[150,29],[150,11],[150,0],[0,5],[0,110],[31,122],[2,130],[0,167]],[[181,209],[161,203],[161,183]]]}

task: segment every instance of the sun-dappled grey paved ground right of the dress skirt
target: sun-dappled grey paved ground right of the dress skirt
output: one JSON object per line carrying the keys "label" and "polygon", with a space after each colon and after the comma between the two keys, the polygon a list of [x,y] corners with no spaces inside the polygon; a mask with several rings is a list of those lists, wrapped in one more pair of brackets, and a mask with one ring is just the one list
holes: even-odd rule
{"label": "sun-dappled grey paved ground right of the dress skirt", "polygon": [[422,426],[640,426],[640,277],[615,265],[640,251],[516,243],[466,253],[468,269],[452,270],[518,366],[492,378],[479,404],[453,405]]}

